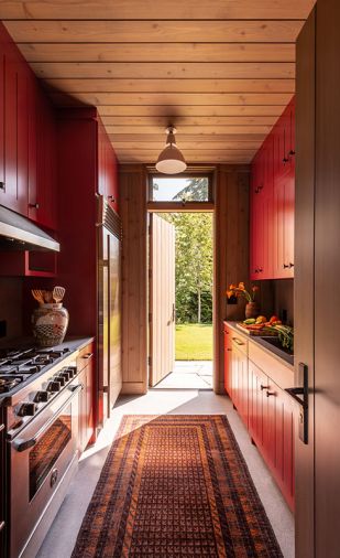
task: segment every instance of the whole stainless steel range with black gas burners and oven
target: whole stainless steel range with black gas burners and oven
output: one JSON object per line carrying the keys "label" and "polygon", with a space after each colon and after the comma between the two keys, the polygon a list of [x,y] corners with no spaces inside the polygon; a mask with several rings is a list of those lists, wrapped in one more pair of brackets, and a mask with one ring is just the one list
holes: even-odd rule
{"label": "whole stainless steel range with black gas burners and oven", "polygon": [[35,556],[77,466],[77,347],[0,351],[7,555]]}

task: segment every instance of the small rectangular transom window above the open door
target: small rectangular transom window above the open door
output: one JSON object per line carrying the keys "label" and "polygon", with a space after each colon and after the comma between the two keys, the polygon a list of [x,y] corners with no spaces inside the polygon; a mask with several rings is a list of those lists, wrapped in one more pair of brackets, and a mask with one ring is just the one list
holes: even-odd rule
{"label": "small rectangular transom window above the open door", "polygon": [[208,176],[162,178],[152,176],[153,202],[209,202]]}

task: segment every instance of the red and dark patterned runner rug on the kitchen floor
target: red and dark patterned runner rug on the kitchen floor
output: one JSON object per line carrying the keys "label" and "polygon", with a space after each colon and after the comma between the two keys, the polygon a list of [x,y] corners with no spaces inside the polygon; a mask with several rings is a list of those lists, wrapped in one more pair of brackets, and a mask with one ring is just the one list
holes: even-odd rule
{"label": "red and dark patterned runner rug on the kitchen floor", "polygon": [[221,415],[125,416],[73,558],[282,557]]}

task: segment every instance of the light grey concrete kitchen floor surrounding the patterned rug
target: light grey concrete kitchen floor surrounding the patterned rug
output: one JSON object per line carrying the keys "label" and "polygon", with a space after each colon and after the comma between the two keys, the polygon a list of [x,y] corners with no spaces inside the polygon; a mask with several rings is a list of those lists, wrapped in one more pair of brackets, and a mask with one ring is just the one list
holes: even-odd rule
{"label": "light grey concrete kitchen floor surrounding the patterned rug", "polygon": [[[226,414],[249,466],[256,490],[285,558],[294,557],[294,517],[283,500],[256,448],[227,396],[209,390],[151,389],[145,396],[119,398],[112,417],[95,447],[87,450],[79,471],[36,558],[69,558],[83,517],[96,487],[107,453],[123,415]],[[34,558],[34,557],[30,557]]]}

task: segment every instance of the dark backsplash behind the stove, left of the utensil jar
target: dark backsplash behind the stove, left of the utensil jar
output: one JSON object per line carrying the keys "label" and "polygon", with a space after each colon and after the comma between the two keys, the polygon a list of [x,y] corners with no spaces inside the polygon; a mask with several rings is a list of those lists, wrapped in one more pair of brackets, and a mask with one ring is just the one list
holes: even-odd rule
{"label": "dark backsplash behind the stove, left of the utensil jar", "polygon": [[22,335],[22,278],[0,278],[0,331],[3,332],[6,328],[6,335],[0,336],[0,344]]}

